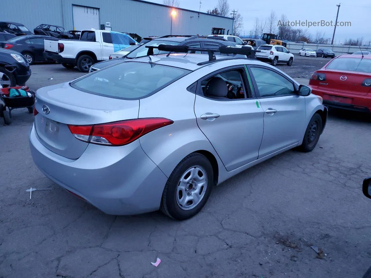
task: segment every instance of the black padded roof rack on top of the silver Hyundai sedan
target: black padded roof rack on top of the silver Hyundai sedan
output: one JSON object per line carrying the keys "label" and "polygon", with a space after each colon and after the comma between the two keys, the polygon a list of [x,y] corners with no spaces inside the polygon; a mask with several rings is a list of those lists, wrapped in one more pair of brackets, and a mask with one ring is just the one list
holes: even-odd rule
{"label": "black padded roof rack on top of the silver Hyundai sedan", "polygon": [[[196,48],[196,47],[188,47],[185,45],[168,45],[168,44],[160,44],[159,46],[146,46],[148,48],[147,55],[153,55],[153,49],[158,49],[159,51],[165,51],[168,52],[167,56],[170,55],[171,52],[178,52],[178,53],[188,53],[188,51],[205,51],[207,54],[209,54],[209,61],[198,63],[198,66],[201,66],[203,64],[207,64],[210,62],[216,61],[215,53],[214,52],[220,52],[223,54],[241,54],[246,55],[247,57],[250,56],[251,53],[254,52],[260,52],[260,50],[254,50],[249,46],[241,46],[241,47],[234,47],[234,46],[220,46],[219,49],[209,49],[209,48]],[[226,59],[231,59],[225,58]],[[246,58],[244,58],[246,59]]]}

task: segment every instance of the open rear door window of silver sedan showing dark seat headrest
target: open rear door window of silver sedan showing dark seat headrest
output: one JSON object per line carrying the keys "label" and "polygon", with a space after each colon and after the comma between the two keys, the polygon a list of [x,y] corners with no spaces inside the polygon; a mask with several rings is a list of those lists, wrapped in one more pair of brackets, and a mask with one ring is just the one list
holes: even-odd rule
{"label": "open rear door window of silver sedan showing dark seat headrest", "polygon": [[244,99],[242,80],[240,70],[229,70],[202,80],[201,89],[211,99]]}

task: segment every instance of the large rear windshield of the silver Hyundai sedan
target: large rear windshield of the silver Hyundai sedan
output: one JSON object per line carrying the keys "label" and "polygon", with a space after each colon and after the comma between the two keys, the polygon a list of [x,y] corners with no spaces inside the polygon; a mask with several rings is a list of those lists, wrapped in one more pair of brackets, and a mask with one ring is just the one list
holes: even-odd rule
{"label": "large rear windshield of the silver Hyundai sedan", "polygon": [[118,99],[140,99],[166,87],[190,70],[141,62],[124,62],[76,80],[75,89]]}

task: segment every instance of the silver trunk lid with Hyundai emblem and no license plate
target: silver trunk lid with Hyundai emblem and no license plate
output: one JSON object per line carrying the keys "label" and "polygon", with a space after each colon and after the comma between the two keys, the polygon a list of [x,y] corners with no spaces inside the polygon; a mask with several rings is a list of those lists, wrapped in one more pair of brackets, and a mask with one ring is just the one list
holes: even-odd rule
{"label": "silver trunk lid with Hyundai emblem and no license plate", "polygon": [[[49,113],[43,112],[43,107]],[[58,155],[78,159],[89,143],[76,139],[68,125],[137,119],[139,100],[93,95],[62,83],[37,90],[35,108],[39,112],[35,116],[35,129],[40,142]]]}

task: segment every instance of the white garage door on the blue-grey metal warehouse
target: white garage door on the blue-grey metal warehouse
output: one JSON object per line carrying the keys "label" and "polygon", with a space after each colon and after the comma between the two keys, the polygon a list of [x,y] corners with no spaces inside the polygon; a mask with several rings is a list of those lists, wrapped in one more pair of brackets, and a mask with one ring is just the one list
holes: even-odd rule
{"label": "white garage door on the blue-grey metal warehouse", "polygon": [[83,6],[72,6],[73,28],[75,30],[90,30],[99,28],[99,9]]}

